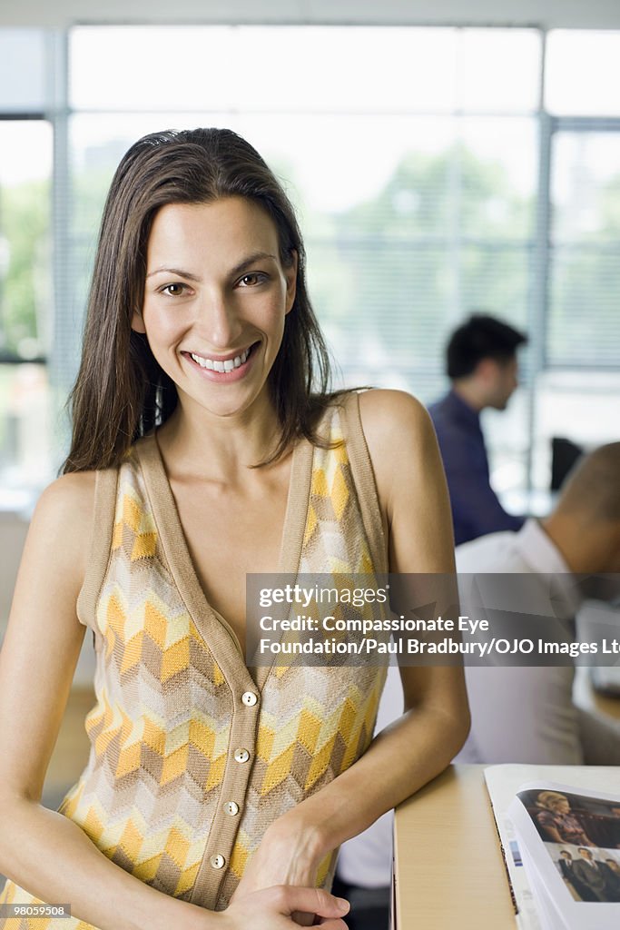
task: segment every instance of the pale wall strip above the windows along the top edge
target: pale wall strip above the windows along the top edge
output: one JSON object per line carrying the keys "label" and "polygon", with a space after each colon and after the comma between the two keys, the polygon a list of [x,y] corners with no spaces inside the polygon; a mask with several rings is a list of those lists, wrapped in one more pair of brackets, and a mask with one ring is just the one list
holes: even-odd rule
{"label": "pale wall strip above the windows along the top edge", "polygon": [[3,0],[0,26],[73,22],[344,22],[620,27],[618,0]]}

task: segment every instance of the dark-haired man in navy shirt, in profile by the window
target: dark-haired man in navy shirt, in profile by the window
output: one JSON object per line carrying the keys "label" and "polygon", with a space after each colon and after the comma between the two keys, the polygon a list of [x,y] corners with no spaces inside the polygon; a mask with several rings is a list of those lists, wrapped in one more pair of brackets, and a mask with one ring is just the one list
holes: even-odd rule
{"label": "dark-haired man in navy shirt, in profile by the window", "polygon": [[485,533],[519,529],[523,522],[504,510],[491,487],[480,414],[485,407],[506,409],[517,387],[517,349],[526,341],[517,329],[492,316],[473,315],[448,342],[452,388],[429,406],[429,414],[448,482],[456,545]]}

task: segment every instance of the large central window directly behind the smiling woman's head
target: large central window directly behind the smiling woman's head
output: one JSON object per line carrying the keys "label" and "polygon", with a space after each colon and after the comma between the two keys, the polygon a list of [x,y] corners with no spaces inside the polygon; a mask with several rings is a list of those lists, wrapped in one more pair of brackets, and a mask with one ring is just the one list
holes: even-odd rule
{"label": "large central window directly behind the smiling woman's head", "polygon": [[[534,30],[77,28],[73,277],[132,141],[230,126],[297,204],[310,294],[342,379],[429,402],[444,388],[447,332],[469,309],[528,322],[540,59]],[[506,446],[521,484],[526,414],[512,408]]]}

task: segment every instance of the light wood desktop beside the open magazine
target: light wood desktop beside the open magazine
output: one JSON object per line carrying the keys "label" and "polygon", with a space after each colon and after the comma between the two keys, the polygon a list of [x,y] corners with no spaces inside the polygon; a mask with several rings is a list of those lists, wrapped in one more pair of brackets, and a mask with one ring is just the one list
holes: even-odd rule
{"label": "light wood desktop beside the open magazine", "polygon": [[394,824],[395,930],[515,930],[483,765],[450,765]]}

